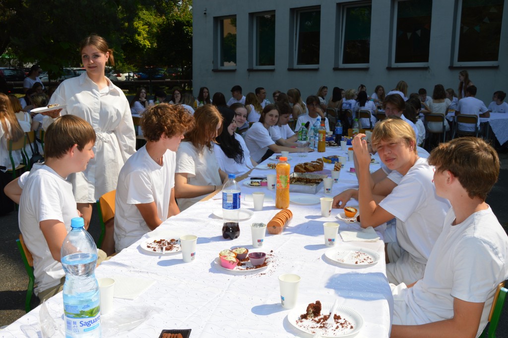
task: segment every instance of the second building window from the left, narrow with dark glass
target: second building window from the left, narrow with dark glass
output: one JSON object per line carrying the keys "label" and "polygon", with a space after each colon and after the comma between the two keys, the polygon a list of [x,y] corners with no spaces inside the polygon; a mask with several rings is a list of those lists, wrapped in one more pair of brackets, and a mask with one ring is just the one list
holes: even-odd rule
{"label": "second building window from the left, narrow with dark glass", "polygon": [[255,66],[275,66],[275,13],[255,16]]}

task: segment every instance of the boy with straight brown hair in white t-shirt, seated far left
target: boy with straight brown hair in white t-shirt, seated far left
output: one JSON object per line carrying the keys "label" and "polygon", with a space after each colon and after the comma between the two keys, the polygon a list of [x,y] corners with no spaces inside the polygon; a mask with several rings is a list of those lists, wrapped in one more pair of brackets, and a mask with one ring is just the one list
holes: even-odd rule
{"label": "boy with straight brown hair in white t-shirt, seated far left", "polygon": [[[59,292],[65,281],[61,245],[71,230],[71,219],[81,216],[66,178],[86,169],[94,157],[95,140],[95,131],[82,118],[59,117],[46,132],[46,162],[6,187],[8,196],[19,201],[19,229],[34,257],[34,291],[41,301]],[[98,255],[98,261],[106,256],[100,250]]]}

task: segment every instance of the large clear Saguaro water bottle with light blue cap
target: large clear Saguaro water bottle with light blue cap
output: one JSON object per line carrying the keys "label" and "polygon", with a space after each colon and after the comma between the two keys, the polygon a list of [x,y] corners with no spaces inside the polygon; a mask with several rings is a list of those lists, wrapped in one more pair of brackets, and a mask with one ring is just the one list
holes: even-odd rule
{"label": "large clear Saguaro water bottle with light blue cap", "polygon": [[71,227],[60,251],[66,273],[63,284],[66,337],[101,337],[99,284],[95,276],[97,247],[84,229],[82,218],[73,218]]}

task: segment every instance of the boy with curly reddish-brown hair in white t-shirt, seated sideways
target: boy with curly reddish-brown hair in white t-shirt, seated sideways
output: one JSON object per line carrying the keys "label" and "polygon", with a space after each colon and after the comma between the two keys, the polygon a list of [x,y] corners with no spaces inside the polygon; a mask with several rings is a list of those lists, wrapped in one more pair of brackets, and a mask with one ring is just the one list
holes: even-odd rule
{"label": "boy with curly reddish-brown hair in white t-shirt, seated sideways", "polygon": [[129,247],[180,213],[175,200],[176,150],[194,117],[181,105],[161,103],[143,114],[146,144],[125,162],[115,195],[115,251]]}

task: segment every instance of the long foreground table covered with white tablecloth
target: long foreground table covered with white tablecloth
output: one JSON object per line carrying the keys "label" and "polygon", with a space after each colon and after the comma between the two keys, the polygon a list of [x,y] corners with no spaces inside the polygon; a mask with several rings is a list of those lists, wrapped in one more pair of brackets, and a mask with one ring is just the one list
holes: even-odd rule
{"label": "long foreground table covered with white tablecloth", "polygon": [[[328,148],[325,155],[345,155],[339,149]],[[323,153],[307,153],[306,157],[291,154],[290,164],[315,160]],[[274,162],[268,160],[266,162]],[[339,183],[333,186],[331,196],[347,187],[355,187],[356,177],[347,172],[352,163],[341,171]],[[378,168],[378,164],[372,165]],[[325,164],[325,169],[331,169]],[[275,170],[255,169],[250,176]],[[103,315],[103,323],[115,321],[118,313],[139,313],[152,309],[149,317],[139,326],[122,333],[125,337],[158,337],[163,329],[192,329],[191,337],[294,337],[311,336],[294,328],[280,305],[278,276],[296,273],[301,276],[298,303],[308,304],[316,300],[333,302],[356,310],[364,324],[357,337],[388,337],[391,323],[393,298],[386,279],[384,244],[376,242],[347,242],[375,250],[380,260],[370,266],[349,268],[339,265],[325,256],[323,223],[337,222],[340,230],[359,229],[357,224],[348,224],[336,218],[342,209],[333,209],[332,216],[323,218],[319,204],[290,204],[293,220],[282,234],[267,233],[262,248],[273,255],[268,267],[249,273],[229,272],[214,262],[219,251],[236,247],[252,250],[250,225],[255,222],[268,223],[279,211],[274,207],[275,192],[263,188],[242,189],[242,208],[253,210],[249,194],[256,191],[272,197],[265,200],[262,211],[253,211],[253,216],[240,222],[239,238],[226,240],[221,236],[222,220],[213,216],[221,208],[220,195],[196,203],[194,206],[165,221],[155,231],[124,249],[97,269],[98,278],[111,277],[132,283],[154,281],[145,292],[134,300],[114,299],[114,310]],[[325,196],[323,191],[317,195]],[[328,195],[330,196],[330,195]],[[268,198],[269,199],[269,198]],[[164,238],[195,234],[198,238],[196,260],[183,263],[181,254],[149,254],[140,248],[148,237]],[[340,235],[336,245],[343,245]],[[140,281],[139,279],[142,279]],[[143,282],[145,281],[145,282]],[[49,314],[57,325],[63,325],[62,294],[49,299],[46,304]],[[0,337],[38,337],[40,332],[41,306],[0,331]],[[105,325],[107,326],[107,325]],[[111,330],[104,336],[110,335]]]}

